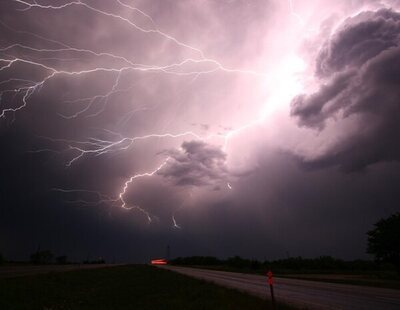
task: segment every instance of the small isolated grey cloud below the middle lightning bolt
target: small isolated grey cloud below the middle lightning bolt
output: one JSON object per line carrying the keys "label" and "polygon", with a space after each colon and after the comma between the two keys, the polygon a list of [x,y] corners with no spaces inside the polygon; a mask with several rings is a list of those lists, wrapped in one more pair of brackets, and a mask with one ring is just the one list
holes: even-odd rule
{"label": "small isolated grey cloud below the middle lightning bolt", "polygon": [[227,179],[226,154],[217,146],[190,141],[182,143],[179,150],[167,153],[167,165],[158,174],[175,185],[216,185]]}

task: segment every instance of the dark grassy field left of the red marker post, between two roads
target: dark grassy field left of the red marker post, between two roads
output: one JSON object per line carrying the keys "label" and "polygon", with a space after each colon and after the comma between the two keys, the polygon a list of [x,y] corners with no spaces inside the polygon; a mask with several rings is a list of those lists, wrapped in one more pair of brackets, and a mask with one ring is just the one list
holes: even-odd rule
{"label": "dark grassy field left of the red marker post, between two roads", "polygon": [[130,265],[0,279],[0,309],[270,309],[270,305],[171,271]]}

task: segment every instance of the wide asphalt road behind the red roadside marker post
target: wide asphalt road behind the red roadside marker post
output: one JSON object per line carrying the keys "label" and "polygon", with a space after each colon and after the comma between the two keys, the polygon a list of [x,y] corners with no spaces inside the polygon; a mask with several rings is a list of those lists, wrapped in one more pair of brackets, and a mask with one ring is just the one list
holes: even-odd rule
{"label": "wide asphalt road behind the red roadside marker post", "polygon": [[[266,276],[176,266],[161,268],[269,298]],[[301,309],[400,309],[400,290],[274,278],[274,291],[278,302]]]}

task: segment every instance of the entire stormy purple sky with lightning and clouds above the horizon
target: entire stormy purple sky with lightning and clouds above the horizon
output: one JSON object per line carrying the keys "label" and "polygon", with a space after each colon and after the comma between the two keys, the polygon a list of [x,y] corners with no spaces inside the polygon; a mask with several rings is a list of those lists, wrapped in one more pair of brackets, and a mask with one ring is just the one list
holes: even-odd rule
{"label": "entire stormy purple sky with lightning and clouds above the horizon", "polygon": [[400,1],[2,0],[0,252],[368,258],[400,211]]}

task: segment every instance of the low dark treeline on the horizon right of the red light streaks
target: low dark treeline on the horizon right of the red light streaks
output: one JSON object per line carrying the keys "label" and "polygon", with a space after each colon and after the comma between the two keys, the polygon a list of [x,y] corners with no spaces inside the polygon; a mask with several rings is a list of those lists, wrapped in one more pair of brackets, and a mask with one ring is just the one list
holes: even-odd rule
{"label": "low dark treeline on the horizon right of the red light streaks", "polygon": [[218,259],[212,256],[178,257],[171,262],[173,265],[181,266],[209,266],[220,269],[243,269],[243,270],[275,270],[280,272],[303,272],[303,271],[368,271],[379,269],[391,269],[391,266],[378,264],[373,261],[353,260],[344,261],[331,256],[320,256],[318,258],[290,257],[279,260],[258,261],[245,259],[240,256],[228,259]]}

